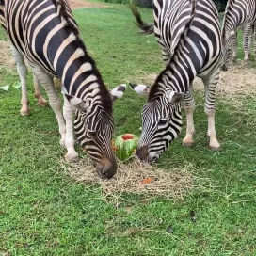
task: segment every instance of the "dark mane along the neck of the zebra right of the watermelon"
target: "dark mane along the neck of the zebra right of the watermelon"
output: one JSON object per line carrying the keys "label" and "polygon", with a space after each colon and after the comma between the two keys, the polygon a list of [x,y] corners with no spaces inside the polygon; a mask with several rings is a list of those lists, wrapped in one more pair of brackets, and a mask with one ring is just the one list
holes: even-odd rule
{"label": "dark mane along the neck of the zebra right of the watermelon", "polygon": [[[194,20],[194,17],[195,17],[195,14],[196,14],[196,6],[197,6],[197,0],[190,0],[190,4],[191,4],[191,14],[190,14],[190,19],[188,20],[187,24],[185,24],[184,26],[184,32],[181,34],[181,37],[180,39],[178,40],[175,48],[174,48],[174,51],[173,51],[173,55],[171,56],[171,58],[169,59],[169,62],[172,62],[173,59],[177,56],[178,52],[179,52],[179,48],[181,47],[181,42],[185,39],[187,33],[188,33],[188,30],[190,28],[190,25],[192,24],[193,20]],[[168,64],[169,65],[169,64]],[[156,92],[158,92],[159,90],[159,87],[158,85],[162,82],[162,78],[163,76],[165,75],[165,72],[168,70],[168,66],[167,68],[162,71],[158,77],[156,78],[151,90],[150,90],[150,94],[149,94],[149,101],[152,101],[153,98],[155,98],[155,95],[156,95]]]}

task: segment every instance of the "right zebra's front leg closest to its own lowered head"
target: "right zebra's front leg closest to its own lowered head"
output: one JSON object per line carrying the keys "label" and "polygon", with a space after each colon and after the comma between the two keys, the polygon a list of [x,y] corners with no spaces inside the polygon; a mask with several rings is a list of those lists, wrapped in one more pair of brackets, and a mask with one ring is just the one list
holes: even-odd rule
{"label": "right zebra's front leg closest to its own lowered head", "polygon": [[186,114],[186,135],[183,139],[183,145],[185,147],[192,147],[194,144],[193,134],[195,132],[194,125],[194,111],[195,111],[195,100],[193,97],[193,84],[189,87],[189,92],[185,94],[184,98],[184,109]]}

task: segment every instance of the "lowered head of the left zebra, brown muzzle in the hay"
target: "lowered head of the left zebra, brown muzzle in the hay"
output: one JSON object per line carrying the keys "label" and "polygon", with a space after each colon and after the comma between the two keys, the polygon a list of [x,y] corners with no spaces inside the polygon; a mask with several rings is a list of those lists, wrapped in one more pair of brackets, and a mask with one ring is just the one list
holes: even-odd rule
{"label": "lowered head of the left zebra, brown muzzle in the hay", "polygon": [[[119,99],[124,90],[125,85],[120,85],[112,89],[110,95],[106,91],[104,101],[109,103],[109,101]],[[112,103],[109,103],[110,109],[105,109],[102,103],[101,97],[93,101],[79,99],[79,102],[75,104],[74,133],[81,146],[91,157],[98,174],[103,178],[110,179],[117,172],[116,158],[111,146],[114,119]]]}

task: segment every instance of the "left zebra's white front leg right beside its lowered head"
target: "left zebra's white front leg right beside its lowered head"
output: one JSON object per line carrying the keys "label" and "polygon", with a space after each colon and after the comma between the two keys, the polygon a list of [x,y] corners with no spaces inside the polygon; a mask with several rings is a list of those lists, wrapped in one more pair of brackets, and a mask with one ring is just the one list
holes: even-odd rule
{"label": "left zebra's white front leg right beside its lowered head", "polygon": [[73,108],[72,104],[64,96],[63,116],[66,121],[66,139],[65,146],[67,148],[67,154],[65,160],[67,162],[78,161],[78,153],[74,150],[74,139],[73,139]]}

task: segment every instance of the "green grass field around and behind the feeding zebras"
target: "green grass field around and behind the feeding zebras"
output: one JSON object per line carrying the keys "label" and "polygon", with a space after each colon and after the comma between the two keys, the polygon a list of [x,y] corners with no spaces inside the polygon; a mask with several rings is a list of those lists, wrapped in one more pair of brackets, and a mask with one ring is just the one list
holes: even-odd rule
{"label": "green grass field around and behind the feeding zebras", "polygon": [[[142,12],[152,21],[151,10]],[[128,8],[77,9],[74,16],[109,88],[140,82],[138,77],[163,68],[153,36],[137,33]],[[0,77],[0,86],[19,82],[16,72],[5,67]],[[60,168],[65,152],[58,144],[55,115],[36,104],[31,74],[28,83],[29,117],[19,115],[19,90],[0,90],[0,255],[256,255],[255,98],[217,99],[222,149],[212,152],[198,92],[195,147],[182,147],[184,128],[160,166],[190,163],[208,185],[178,201],[152,198],[145,203],[142,196],[123,195],[117,209],[104,200],[100,187],[77,184]],[[139,135],[145,101],[127,89],[115,103],[116,135]],[[236,107],[237,101],[242,106]]]}

